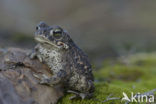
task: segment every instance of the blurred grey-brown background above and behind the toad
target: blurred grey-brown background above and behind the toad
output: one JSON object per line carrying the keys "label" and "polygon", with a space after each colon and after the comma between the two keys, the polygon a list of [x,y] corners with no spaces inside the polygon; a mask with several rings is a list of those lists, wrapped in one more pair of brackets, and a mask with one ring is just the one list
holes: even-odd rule
{"label": "blurred grey-brown background above and behind the toad", "polygon": [[40,21],[60,25],[96,67],[156,50],[155,0],[0,0],[0,47],[32,49]]}

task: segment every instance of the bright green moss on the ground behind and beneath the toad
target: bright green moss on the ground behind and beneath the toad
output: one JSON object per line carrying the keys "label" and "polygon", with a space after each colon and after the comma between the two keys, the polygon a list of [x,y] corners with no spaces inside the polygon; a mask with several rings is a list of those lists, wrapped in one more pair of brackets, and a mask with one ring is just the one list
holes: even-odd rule
{"label": "bright green moss on the ground behind and beneath the toad", "polygon": [[[128,64],[122,62],[125,59]],[[59,104],[124,104],[121,102],[123,92],[130,96],[131,92],[144,93],[156,88],[156,53],[136,54],[125,59],[104,62],[104,67],[94,72],[96,90],[92,99],[71,101],[72,95],[67,94]],[[102,102],[109,95],[120,99]]]}

